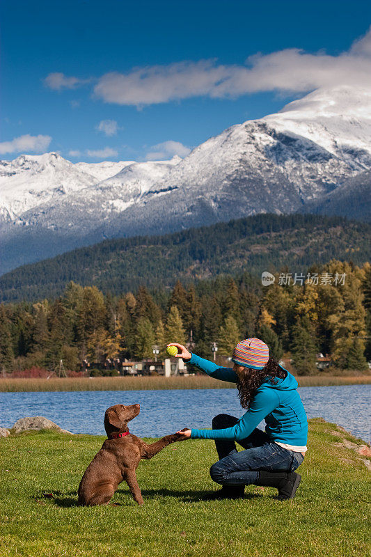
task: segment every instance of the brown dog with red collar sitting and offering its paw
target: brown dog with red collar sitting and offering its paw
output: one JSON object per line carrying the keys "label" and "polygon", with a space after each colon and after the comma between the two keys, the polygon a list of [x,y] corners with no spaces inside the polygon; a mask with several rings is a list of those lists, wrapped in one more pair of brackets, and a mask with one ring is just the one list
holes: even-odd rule
{"label": "brown dog with red collar sitting and offering its paw", "polygon": [[106,410],[104,429],[108,439],[86,469],[79,485],[79,505],[109,503],[118,487],[126,480],[134,500],[143,505],[141,489],[136,480],[136,467],[142,458],[152,458],[167,445],[182,437],[166,435],[156,443],[146,444],[129,433],[127,423],[138,416],[139,405],[116,405]]}

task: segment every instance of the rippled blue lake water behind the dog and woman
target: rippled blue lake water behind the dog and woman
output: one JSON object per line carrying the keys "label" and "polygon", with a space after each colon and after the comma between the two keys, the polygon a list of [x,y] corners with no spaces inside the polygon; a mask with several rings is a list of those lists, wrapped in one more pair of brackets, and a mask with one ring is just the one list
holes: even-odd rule
{"label": "rippled blue lake water behind the dog and woman", "polygon": [[[308,418],[320,416],[371,441],[371,385],[302,387],[298,392]],[[162,437],[186,426],[211,427],[216,414],[242,416],[236,393],[235,389],[0,393],[0,426],[12,427],[25,416],[45,416],[73,433],[104,434],[106,408],[139,402],[141,413],[129,430],[139,437]]]}

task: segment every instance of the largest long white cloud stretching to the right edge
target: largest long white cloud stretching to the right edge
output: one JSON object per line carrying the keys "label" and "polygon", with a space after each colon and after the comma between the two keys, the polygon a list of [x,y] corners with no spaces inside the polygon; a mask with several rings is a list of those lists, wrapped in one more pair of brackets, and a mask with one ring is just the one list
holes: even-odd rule
{"label": "largest long white cloud stretching to the right edge", "polygon": [[255,54],[245,65],[185,61],[104,74],[94,87],[104,102],[141,107],[195,96],[239,97],[259,91],[304,93],[319,87],[370,87],[371,28],[347,52],[331,56],[285,49]]}

